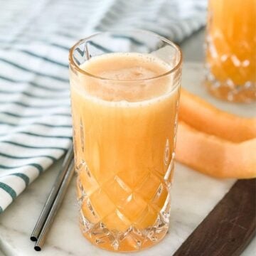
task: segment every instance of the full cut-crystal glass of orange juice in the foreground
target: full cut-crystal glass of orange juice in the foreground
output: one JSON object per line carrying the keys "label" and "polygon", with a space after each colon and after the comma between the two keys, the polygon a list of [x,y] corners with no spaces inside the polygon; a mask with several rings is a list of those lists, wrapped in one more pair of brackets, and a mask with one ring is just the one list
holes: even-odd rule
{"label": "full cut-crystal glass of orange juice in the foreground", "polygon": [[92,244],[129,252],[166,235],[180,79],[181,51],[154,33],[98,33],[70,50],[80,229]]}

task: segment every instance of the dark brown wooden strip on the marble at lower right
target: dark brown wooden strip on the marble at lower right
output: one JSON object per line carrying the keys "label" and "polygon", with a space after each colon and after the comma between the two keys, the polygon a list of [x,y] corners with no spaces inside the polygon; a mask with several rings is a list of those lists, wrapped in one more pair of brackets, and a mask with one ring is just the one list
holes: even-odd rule
{"label": "dark brown wooden strip on the marble at lower right", "polygon": [[245,250],[255,231],[256,178],[239,180],[174,256],[237,256]]}

